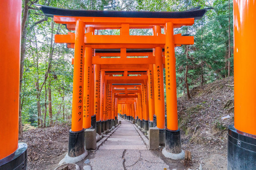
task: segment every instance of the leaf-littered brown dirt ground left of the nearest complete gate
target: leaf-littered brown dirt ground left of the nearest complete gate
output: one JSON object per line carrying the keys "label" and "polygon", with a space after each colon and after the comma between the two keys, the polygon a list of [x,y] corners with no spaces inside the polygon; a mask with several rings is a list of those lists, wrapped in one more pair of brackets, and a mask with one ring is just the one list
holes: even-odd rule
{"label": "leaf-littered brown dirt ground left of the nearest complete gate", "polygon": [[28,145],[28,170],[52,170],[64,158],[68,148],[70,125],[32,128],[19,137]]}

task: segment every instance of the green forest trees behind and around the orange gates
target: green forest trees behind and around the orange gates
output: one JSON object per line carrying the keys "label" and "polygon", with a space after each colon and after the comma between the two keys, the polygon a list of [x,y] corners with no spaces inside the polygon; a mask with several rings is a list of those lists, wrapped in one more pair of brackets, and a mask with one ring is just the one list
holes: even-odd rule
{"label": "green forest trees behind and around the orange gates", "polygon": [[[184,11],[212,8],[193,26],[174,30],[194,36],[193,45],[175,48],[177,95],[191,98],[189,89],[233,75],[232,0],[22,0],[19,135],[23,126],[48,127],[70,122],[73,89],[73,49],[55,44],[55,34],[67,34],[34,3],[69,9]],[[97,34],[119,34],[101,30]],[[150,29],[131,35],[152,35]],[[165,71],[165,70],[164,70]],[[165,75],[165,74],[164,74]],[[164,77],[165,78],[165,77]]]}

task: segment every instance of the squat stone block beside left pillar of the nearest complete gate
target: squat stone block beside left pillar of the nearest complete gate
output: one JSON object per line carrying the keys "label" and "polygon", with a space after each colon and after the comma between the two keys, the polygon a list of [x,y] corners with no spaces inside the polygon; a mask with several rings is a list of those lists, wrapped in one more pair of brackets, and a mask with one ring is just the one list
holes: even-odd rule
{"label": "squat stone block beside left pillar of the nearest complete gate", "polygon": [[96,132],[95,129],[86,129],[84,131],[84,144],[85,149],[95,150],[96,149]]}

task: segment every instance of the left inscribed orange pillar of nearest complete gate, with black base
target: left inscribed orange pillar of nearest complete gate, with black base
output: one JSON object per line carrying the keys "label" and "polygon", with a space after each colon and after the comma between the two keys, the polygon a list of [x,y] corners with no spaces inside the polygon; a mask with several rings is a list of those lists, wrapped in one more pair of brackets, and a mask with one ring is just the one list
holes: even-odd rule
{"label": "left inscribed orange pillar of nearest complete gate, with black base", "polygon": [[[74,71],[73,71],[73,98],[72,124],[69,131],[68,156],[77,157],[86,155],[84,149],[83,103],[84,103],[84,40],[85,24],[76,21],[74,43]],[[84,156],[85,157],[85,156]]]}

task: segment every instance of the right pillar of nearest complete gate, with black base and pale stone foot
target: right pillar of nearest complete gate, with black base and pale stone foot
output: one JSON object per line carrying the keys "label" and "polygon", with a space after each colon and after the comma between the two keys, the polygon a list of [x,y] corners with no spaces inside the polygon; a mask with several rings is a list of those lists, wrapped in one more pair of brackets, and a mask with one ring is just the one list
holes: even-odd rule
{"label": "right pillar of nearest complete gate, with black base and pale stone foot", "polygon": [[[165,130],[165,148],[163,154],[172,159],[183,159],[185,153],[181,148],[180,129],[178,128],[177,94],[176,94],[176,58],[174,44],[174,24],[165,25],[165,83],[167,127]],[[172,154],[170,154],[172,153]]]}

